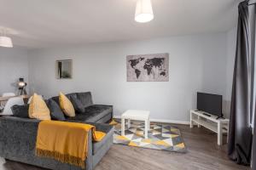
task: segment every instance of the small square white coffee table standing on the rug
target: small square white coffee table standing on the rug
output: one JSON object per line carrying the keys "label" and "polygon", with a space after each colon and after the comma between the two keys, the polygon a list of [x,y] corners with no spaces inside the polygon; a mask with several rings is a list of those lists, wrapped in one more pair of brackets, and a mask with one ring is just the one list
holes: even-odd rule
{"label": "small square white coffee table standing on the rug", "polygon": [[150,129],[149,111],[128,110],[121,116],[121,134],[125,136],[125,119],[128,120],[128,128],[131,126],[131,120],[145,122],[145,139],[148,139],[148,129]]}

